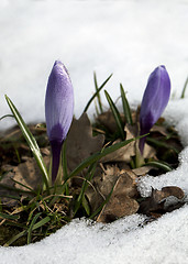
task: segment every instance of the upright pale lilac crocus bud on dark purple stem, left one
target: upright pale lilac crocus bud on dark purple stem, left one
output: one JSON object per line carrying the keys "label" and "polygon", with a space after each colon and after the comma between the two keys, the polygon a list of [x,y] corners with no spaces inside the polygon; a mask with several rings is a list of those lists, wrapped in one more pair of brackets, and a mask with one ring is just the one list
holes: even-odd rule
{"label": "upright pale lilac crocus bud on dark purple stem, left one", "polygon": [[57,176],[62,145],[70,128],[73,113],[73,85],[66,67],[56,61],[48,78],[45,97],[46,128],[53,156],[53,183]]}

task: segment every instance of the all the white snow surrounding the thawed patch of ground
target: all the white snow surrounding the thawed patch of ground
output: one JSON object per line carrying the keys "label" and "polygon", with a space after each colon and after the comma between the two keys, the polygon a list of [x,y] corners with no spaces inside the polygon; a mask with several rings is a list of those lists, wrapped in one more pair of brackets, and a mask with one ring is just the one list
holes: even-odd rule
{"label": "all the white snow surrounding the thawed patch of ground", "polygon": [[[185,150],[176,170],[145,176],[139,188],[148,196],[152,187],[175,185],[187,195],[188,98],[178,99],[188,75],[187,18],[187,0],[1,0],[0,116],[9,113],[7,94],[26,122],[44,121],[45,87],[55,59],[69,70],[77,117],[95,90],[93,70],[99,84],[113,73],[107,90],[117,99],[122,82],[135,106],[150,73],[163,64],[173,86],[164,116],[176,125]],[[0,130],[11,124],[11,119],[2,120]],[[0,262],[186,264],[187,216],[184,206],[147,226],[139,215],[106,226],[76,219],[38,243],[0,248]]]}

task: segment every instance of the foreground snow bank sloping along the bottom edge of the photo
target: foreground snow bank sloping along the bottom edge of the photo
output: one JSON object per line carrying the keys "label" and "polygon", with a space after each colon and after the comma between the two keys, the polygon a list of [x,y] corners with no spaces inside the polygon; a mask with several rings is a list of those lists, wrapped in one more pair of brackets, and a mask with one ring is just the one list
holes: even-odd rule
{"label": "foreground snow bank sloping along the bottom edge of the photo", "polygon": [[137,215],[106,226],[75,220],[42,242],[1,249],[1,264],[187,264],[187,213],[184,207],[146,227]]}

